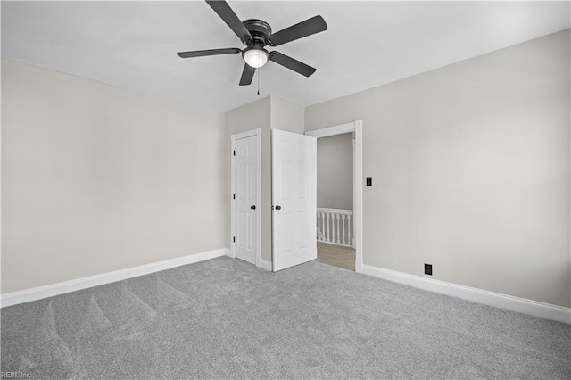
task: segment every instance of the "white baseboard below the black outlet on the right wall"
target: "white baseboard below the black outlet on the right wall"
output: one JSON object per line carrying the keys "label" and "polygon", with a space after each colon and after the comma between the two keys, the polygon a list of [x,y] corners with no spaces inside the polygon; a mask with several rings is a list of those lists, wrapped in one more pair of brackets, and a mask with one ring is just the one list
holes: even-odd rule
{"label": "white baseboard below the black outlet on the right wall", "polygon": [[547,318],[571,324],[571,309],[550,303],[527,300],[507,294],[493,293],[474,287],[456,285],[433,278],[410,275],[395,270],[363,265],[362,273],[395,283],[410,285],[434,293],[451,295],[471,302],[483,303],[500,309],[517,311],[535,317]]}

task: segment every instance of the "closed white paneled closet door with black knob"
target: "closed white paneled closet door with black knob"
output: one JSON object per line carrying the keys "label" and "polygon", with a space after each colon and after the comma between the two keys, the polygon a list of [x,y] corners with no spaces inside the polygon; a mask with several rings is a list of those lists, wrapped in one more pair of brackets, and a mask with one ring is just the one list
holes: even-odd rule
{"label": "closed white paneled closet door with black knob", "polygon": [[232,136],[232,252],[260,264],[260,136]]}

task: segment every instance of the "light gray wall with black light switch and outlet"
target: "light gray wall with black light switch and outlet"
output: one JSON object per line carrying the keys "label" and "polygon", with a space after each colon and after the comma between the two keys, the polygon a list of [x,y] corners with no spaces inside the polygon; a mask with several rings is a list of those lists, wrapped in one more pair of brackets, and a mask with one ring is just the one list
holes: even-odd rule
{"label": "light gray wall with black light switch and outlet", "polygon": [[363,120],[364,264],[570,306],[569,30],[306,108]]}

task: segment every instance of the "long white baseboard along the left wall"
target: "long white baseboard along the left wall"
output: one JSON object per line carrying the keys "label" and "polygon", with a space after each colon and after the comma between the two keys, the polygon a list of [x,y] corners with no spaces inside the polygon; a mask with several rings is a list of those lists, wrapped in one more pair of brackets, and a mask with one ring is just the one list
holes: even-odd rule
{"label": "long white baseboard along the left wall", "polygon": [[41,300],[47,297],[53,297],[63,293],[75,292],[77,290],[86,289],[88,287],[114,283],[116,281],[125,280],[132,277],[148,275],[149,273],[160,272],[161,270],[177,268],[194,262],[210,260],[220,256],[228,255],[228,248],[220,248],[214,251],[200,252],[190,254],[176,259],[152,262],[150,264],[140,265],[132,268],[114,270],[112,272],[102,273],[99,275],[75,278],[69,281],[62,281],[44,286],[37,286],[30,289],[24,289],[18,292],[5,293],[1,295],[0,307],[17,305],[19,303]]}

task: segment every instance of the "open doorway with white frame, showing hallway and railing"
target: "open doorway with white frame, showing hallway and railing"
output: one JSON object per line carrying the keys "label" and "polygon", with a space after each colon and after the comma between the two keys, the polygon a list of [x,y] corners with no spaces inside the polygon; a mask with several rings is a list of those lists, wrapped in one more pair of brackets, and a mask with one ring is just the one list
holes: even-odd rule
{"label": "open doorway with white frame, showing hallway and railing", "polygon": [[362,268],[362,121],[305,132],[318,138],[318,261]]}

